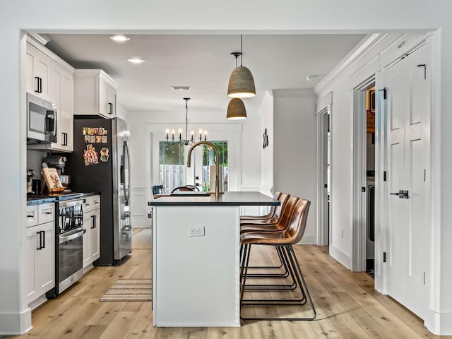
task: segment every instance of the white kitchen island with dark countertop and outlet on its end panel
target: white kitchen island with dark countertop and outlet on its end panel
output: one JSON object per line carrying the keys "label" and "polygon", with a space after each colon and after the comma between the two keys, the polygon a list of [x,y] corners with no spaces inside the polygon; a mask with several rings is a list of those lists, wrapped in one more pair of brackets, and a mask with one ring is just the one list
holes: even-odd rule
{"label": "white kitchen island with dark countertop and outlet on its end panel", "polygon": [[153,326],[240,326],[240,206],[258,192],[162,196],[153,206]]}

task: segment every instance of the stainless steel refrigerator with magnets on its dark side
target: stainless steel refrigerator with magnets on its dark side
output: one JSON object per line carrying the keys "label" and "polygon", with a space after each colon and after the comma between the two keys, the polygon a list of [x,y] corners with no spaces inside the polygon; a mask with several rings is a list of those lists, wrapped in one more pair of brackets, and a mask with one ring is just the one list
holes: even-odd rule
{"label": "stainless steel refrigerator with magnets on its dark side", "polygon": [[100,193],[100,258],[94,264],[115,265],[132,249],[129,131],[119,118],[76,116],[73,142],[65,168],[71,189]]}

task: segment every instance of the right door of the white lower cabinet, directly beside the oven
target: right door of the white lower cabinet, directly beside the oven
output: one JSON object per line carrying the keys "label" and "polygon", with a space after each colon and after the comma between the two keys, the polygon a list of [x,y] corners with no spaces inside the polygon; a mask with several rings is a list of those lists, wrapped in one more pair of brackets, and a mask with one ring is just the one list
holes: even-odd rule
{"label": "right door of the white lower cabinet, directly beside the oven", "polygon": [[[55,287],[55,222],[39,225],[36,249],[36,289],[42,295]],[[41,248],[40,248],[41,247]]]}

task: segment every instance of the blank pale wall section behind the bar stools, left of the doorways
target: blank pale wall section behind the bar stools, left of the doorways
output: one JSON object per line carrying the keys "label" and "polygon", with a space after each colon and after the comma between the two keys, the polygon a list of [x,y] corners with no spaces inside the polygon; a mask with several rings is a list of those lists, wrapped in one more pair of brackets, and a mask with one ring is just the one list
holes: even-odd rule
{"label": "blank pale wall section behind the bar stools, left of the doorways", "polygon": [[302,243],[317,237],[317,130],[313,90],[273,90],[273,185],[311,201]]}

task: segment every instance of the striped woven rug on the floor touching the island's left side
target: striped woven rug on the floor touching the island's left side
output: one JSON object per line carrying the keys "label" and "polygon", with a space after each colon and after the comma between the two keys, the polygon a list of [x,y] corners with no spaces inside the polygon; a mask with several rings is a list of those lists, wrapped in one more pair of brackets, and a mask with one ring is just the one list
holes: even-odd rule
{"label": "striped woven rug on the floor touching the island's left side", "polygon": [[152,285],[150,279],[118,279],[105,292],[100,302],[150,302]]}

